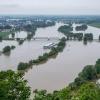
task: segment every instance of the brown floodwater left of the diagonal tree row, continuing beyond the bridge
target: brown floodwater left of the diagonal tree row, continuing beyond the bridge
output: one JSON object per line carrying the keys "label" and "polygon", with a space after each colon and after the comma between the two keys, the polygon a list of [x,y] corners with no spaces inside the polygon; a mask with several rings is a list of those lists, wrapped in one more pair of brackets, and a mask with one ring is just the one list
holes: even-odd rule
{"label": "brown floodwater left of the diagonal tree row, continuing beyond the bridge", "polygon": [[[38,34],[44,34],[44,36],[40,35],[39,37],[58,37],[61,38],[63,35],[57,32],[57,29],[62,24],[56,24],[53,27],[47,28],[38,28],[36,31],[35,37],[38,37]],[[53,31],[52,31],[53,30]],[[47,35],[46,35],[47,34]],[[53,35],[54,34],[54,35]],[[16,32],[15,37],[25,38],[27,33],[24,31]],[[11,37],[11,36],[9,36]],[[32,40],[32,41],[25,41],[23,45],[18,45],[17,41],[2,41],[0,42],[0,51],[5,46],[16,46],[14,50],[11,51],[10,55],[0,54],[0,70],[16,70],[19,62],[28,62],[31,59],[36,59],[38,56],[42,55],[49,50],[43,49],[43,46],[49,44],[51,42],[58,42],[58,40],[47,40],[47,39],[40,39],[40,40]]]}

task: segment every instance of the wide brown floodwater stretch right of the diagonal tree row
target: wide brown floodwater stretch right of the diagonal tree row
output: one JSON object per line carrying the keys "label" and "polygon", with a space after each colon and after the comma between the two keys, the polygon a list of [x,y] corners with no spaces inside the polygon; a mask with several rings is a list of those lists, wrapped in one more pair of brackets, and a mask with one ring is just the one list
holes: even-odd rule
{"label": "wide brown floodwater stretch right of the diagonal tree row", "polygon": [[86,65],[100,58],[100,43],[66,42],[66,47],[55,59],[33,66],[25,74],[32,89],[59,90],[67,86]]}

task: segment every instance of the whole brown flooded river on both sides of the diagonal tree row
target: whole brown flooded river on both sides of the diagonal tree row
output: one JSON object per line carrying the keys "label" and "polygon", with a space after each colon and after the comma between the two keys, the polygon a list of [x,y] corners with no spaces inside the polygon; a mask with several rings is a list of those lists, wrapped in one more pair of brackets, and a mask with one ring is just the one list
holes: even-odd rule
{"label": "whole brown flooded river on both sides of the diagonal tree row", "polygon": [[[62,33],[57,31],[62,24],[48,28],[39,28],[35,37],[63,37]],[[74,30],[75,32],[75,30]],[[93,33],[95,38],[98,38],[100,29],[89,26],[88,33]],[[11,51],[10,56],[0,55],[0,70],[17,69],[19,62],[28,62],[31,59],[37,58],[44,52],[43,45],[57,40],[36,40],[25,41],[19,46],[16,41],[0,42],[0,50],[6,45],[15,45],[16,49]],[[84,45],[79,41],[67,41],[63,52],[57,57],[49,59],[48,62],[33,66],[24,76],[28,80],[28,84],[34,89],[47,89],[48,91],[59,90],[72,82],[78,73],[85,65],[95,64],[95,61],[100,58],[100,43],[90,42]]]}

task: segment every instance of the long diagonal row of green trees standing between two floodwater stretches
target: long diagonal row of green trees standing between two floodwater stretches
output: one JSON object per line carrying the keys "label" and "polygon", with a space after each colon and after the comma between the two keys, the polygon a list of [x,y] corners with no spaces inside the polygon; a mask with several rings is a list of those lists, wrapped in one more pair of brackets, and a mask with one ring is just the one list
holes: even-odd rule
{"label": "long diagonal row of green trees standing between two floodwater stretches", "polygon": [[53,55],[57,55],[59,52],[61,52],[64,49],[65,45],[66,39],[62,38],[58,43],[57,47],[53,47],[49,53],[44,53],[42,56],[39,56],[35,60],[30,60],[28,63],[20,62],[18,65],[18,70],[26,70],[32,67],[32,65],[37,65],[42,62],[46,62],[50,57],[52,57]]}

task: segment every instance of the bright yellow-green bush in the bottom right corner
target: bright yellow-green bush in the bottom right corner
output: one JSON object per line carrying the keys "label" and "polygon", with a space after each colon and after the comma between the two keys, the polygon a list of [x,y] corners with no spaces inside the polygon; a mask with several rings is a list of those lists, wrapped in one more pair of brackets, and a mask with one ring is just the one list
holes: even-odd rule
{"label": "bright yellow-green bush in the bottom right corner", "polygon": [[100,100],[100,88],[94,83],[86,83],[80,86],[72,100]]}

